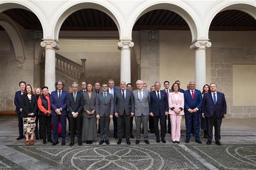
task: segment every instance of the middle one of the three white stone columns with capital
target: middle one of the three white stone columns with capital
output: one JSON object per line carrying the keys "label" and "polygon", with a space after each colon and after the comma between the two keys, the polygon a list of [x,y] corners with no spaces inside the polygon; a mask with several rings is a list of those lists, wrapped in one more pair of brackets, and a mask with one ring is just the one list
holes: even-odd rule
{"label": "middle one of the three white stone columns with capital", "polygon": [[120,40],[118,48],[121,50],[120,81],[130,82],[130,48],[134,45],[131,40]]}

